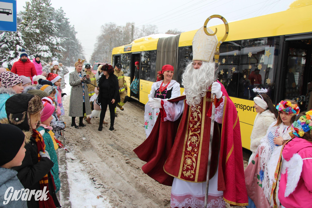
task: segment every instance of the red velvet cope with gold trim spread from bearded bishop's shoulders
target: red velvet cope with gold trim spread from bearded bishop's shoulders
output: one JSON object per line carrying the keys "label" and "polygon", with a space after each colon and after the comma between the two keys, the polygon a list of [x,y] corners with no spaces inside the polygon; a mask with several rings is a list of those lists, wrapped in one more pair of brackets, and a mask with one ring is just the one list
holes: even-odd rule
{"label": "red velvet cope with gold trim spread from bearded bishop's shoulders", "polygon": [[[223,191],[223,198],[227,203],[234,206],[246,206],[248,205],[248,199],[239,119],[236,107],[222,84],[221,91],[224,96],[224,108],[219,151],[218,190]],[[164,113],[162,109],[161,113]],[[163,117],[165,115],[161,116],[162,119]],[[181,122],[185,121],[187,117],[188,113],[183,113]],[[184,133],[183,135],[185,135],[186,127],[178,126],[179,123],[180,121],[161,122],[160,116],[158,116],[150,136],[134,150],[141,160],[147,162],[142,170],[154,180],[168,186],[172,185],[173,177],[163,171],[163,166],[174,145],[174,138],[179,134]],[[203,139],[209,140],[209,135]],[[176,158],[176,160],[180,163],[181,157]]]}

